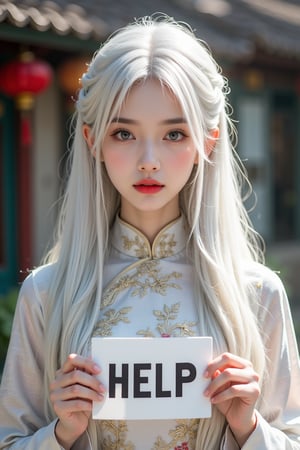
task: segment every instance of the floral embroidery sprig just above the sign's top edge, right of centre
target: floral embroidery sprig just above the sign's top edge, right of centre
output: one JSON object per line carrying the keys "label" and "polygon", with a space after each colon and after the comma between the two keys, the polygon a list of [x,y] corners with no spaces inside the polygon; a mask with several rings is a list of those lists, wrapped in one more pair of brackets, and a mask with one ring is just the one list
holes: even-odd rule
{"label": "floral embroidery sprig just above the sign's top edge, right of centre", "polygon": [[[153,314],[157,318],[157,321],[160,322],[156,329],[161,336],[173,336],[173,337],[182,337],[182,336],[195,336],[195,331],[193,330],[196,327],[197,322],[180,322],[174,323],[174,321],[178,317],[180,309],[180,303],[174,303],[171,306],[164,305],[163,310],[154,310]],[[149,328],[146,330],[140,330],[137,332],[138,335],[144,337],[154,337],[154,333],[151,332]]]}

